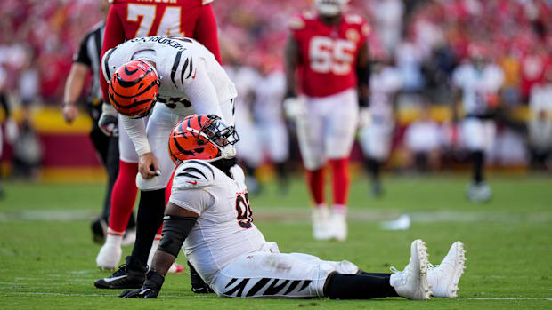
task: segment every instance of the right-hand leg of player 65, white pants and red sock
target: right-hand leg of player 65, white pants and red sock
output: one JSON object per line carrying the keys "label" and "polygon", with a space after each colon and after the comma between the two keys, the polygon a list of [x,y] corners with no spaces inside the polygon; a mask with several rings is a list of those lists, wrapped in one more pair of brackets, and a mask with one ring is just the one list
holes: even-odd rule
{"label": "right-hand leg of player 65, white pants and red sock", "polygon": [[343,91],[327,99],[324,152],[332,168],[333,205],[331,227],[333,237],[345,241],[347,236],[346,204],[350,187],[348,159],[354,142],[358,118],[356,91]]}

